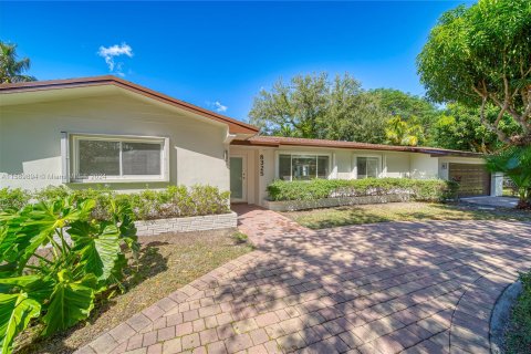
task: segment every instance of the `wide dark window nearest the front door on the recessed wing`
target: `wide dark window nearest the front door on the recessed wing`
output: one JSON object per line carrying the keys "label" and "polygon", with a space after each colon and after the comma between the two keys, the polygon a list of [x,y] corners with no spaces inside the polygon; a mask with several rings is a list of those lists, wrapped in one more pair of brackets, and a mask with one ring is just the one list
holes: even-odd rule
{"label": "wide dark window nearest the front door on the recessed wing", "polygon": [[279,178],[283,180],[310,180],[329,178],[330,157],[324,155],[280,154]]}

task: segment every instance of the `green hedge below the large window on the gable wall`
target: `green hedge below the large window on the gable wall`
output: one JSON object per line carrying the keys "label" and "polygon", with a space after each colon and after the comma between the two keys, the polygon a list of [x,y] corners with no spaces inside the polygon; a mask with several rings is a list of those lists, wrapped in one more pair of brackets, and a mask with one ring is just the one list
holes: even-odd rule
{"label": "green hedge below the large window on the gable wall", "polygon": [[21,189],[0,189],[0,211],[20,209],[30,201],[48,201],[74,196],[74,199],[94,199],[93,217],[106,220],[113,201],[127,201],[137,220],[192,217],[230,211],[230,194],[216,187],[170,186],[164,190],[146,189],[135,194],[117,194],[107,188],[69,189],[64,186],[48,187],[34,192]]}

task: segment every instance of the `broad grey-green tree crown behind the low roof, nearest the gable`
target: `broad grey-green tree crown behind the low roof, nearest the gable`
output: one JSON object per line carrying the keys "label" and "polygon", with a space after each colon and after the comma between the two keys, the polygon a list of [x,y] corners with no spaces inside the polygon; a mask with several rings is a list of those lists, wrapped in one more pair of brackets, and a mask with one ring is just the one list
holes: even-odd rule
{"label": "broad grey-green tree crown behind the low roof, nearest the gable", "polygon": [[377,100],[348,74],[279,80],[262,90],[249,113],[263,134],[383,143],[386,115]]}

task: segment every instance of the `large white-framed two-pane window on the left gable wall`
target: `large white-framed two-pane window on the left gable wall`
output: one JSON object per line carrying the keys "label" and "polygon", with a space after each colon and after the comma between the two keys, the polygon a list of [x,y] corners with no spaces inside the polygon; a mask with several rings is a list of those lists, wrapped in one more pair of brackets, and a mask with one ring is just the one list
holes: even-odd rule
{"label": "large white-framed two-pane window on the left gable wall", "polygon": [[163,180],[166,145],[155,137],[73,136],[74,180]]}

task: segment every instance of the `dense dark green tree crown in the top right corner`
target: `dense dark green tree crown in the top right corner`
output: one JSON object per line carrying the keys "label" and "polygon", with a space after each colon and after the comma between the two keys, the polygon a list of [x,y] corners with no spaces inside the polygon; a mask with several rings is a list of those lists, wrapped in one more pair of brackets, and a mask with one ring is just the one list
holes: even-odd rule
{"label": "dense dark green tree crown in the top right corner", "polygon": [[[480,107],[501,142],[531,144],[531,1],[479,0],[444,13],[417,67],[429,98]],[[520,129],[507,133],[506,114]]]}

